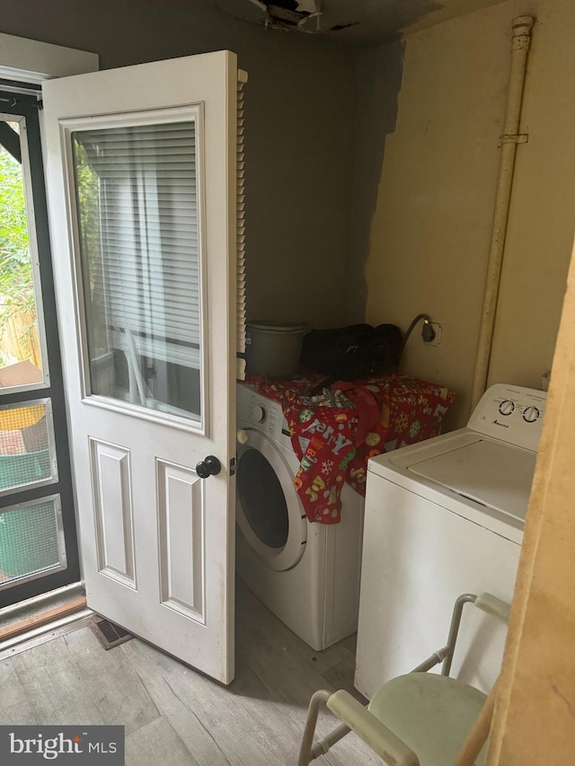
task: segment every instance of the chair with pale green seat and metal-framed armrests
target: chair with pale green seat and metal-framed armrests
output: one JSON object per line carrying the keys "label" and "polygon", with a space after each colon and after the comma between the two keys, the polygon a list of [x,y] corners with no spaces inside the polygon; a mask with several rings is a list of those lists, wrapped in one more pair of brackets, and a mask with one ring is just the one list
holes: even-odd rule
{"label": "chair with pale green seat and metal-framed armrests", "polygon": [[[506,623],[509,620],[508,603],[491,594],[463,594],[456,600],[447,645],[410,674],[385,683],[376,691],[367,708],[348,691],[316,691],[307,712],[298,766],[308,766],[315,758],[327,753],[349,731],[360,736],[385,766],[454,764],[486,700],[482,691],[449,677],[465,603],[471,603]],[[441,674],[426,673],[439,663],[443,663]],[[315,724],[323,703],[343,723],[314,742]],[[481,718],[485,718],[487,708],[483,709]],[[489,718],[482,728],[484,735],[476,750],[480,749],[487,735]],[[474,762],[482,766],[483,759],[484,753],[480,753]]]}

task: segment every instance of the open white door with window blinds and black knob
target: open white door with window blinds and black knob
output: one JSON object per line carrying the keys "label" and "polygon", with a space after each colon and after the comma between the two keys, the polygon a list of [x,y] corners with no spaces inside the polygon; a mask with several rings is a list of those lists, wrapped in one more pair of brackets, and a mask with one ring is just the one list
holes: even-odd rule
{"label": "open white door with window blinds and black knob", "polygon": [[224,51],[44,86],[88,605],[226,683],[237,77]]}

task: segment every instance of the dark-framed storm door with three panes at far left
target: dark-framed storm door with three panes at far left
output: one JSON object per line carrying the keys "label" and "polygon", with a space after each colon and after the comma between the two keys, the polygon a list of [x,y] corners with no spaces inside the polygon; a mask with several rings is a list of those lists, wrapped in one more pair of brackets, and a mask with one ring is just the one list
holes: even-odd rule
{"label": "dark-framed storm door with three panes at far left", "polygon": [[0,607],[80,579],[39,109],[0,92]]}

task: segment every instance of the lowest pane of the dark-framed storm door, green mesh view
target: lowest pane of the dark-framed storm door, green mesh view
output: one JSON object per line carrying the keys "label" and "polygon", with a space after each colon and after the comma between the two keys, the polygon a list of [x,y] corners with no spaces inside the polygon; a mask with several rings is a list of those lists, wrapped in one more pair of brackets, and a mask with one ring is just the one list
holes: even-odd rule
{"label": "lowest pane of the dark-framed storm door, green mesh view", "polygon": [[0,588],[66,567],[59,497],[0,512]]}

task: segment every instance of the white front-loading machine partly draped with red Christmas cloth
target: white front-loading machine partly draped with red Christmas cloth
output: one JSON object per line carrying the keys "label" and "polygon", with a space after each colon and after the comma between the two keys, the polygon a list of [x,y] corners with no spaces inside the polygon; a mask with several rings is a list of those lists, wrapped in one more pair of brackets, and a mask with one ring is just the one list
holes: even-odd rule
{"label": "white front-loading machine partly draped with red Christmas cloth", "polygon": [[237,413],[237,572],[320,651],[357,630],[363,497],[345,485],[341,523],[310,524],[281,404],[238,384]]}

